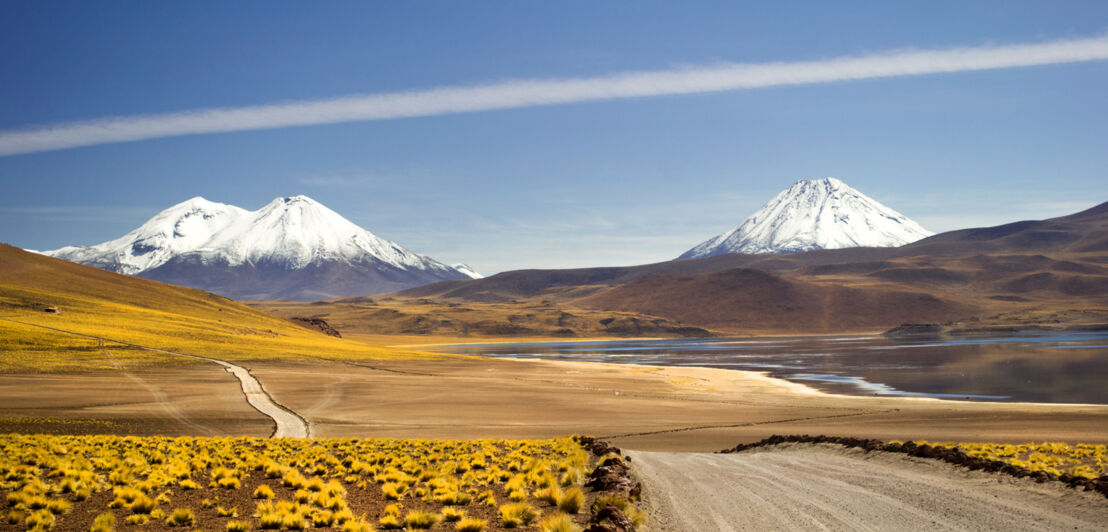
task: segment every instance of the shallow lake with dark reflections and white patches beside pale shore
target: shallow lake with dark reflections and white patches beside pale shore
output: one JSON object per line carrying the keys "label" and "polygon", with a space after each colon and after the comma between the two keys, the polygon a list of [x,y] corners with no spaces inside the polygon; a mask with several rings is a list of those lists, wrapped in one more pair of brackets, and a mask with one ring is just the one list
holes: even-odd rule
{"label": "shallow lake with dark reflections and white patches beside pale shore", "polygon": [[1108,332],[552,341],[445,352],[765,371],[834,393],[1108,403]]}

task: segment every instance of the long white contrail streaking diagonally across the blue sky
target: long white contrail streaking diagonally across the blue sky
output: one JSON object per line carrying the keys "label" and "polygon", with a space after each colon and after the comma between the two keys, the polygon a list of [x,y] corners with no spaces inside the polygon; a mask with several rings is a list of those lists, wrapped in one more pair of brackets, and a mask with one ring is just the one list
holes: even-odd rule
{"label": "long white contrail streaking diagonally across the blue sky", "polygon": [[112,116],[0,131],[0,156],[165,136],[267,130],[624,98],[736,91],[1108,59],[1108,35],[1033,44],[910,50],[817,61],[722,63],[595,78],[509,80],[245,108]]}

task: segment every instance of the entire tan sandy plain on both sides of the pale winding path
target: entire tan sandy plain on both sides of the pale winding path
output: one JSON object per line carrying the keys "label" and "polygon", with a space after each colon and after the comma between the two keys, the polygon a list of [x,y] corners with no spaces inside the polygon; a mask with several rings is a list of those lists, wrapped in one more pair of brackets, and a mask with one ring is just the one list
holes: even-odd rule
{"label": "entire tan sandy plain on both sides of the pale winding path", "polygon": [[[1108,442],[1108,406],[825,395],[760,374],[543,360],[240,361],[314,437],[547,438],[717,451],[774,433]],[[138,379],[138,380],[135,380]],[[268,436],[214,364],[0,376],[0,431]],[[38,427],[38,429],[35,429]]]}

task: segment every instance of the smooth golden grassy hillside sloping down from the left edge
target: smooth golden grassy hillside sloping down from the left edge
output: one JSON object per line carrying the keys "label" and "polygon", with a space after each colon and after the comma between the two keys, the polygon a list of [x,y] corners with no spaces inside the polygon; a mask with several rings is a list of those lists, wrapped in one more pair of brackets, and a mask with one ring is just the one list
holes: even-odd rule
{"label": "smooth golden grassy hillside sloping down from the left edge", "polygon": [[[214,294],[81,266],[0,245],[0,370],[111,366],[100,342],[214,358],[402,359],[441,357],[329,337]],[[60,314],[45,313],[58,307]],[[142,349],[130,362],[166,357]],[[186,360],[185,360],[186,362]]]}

